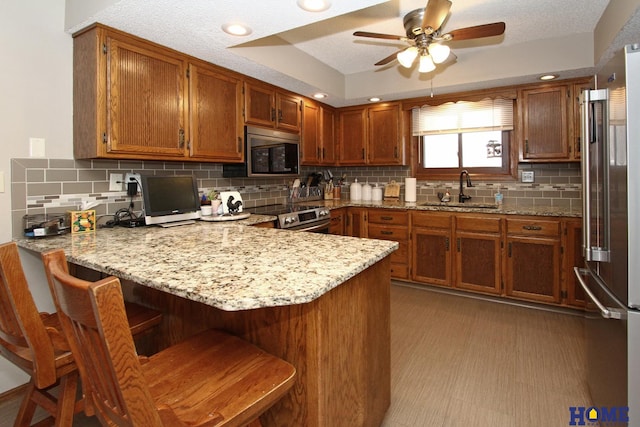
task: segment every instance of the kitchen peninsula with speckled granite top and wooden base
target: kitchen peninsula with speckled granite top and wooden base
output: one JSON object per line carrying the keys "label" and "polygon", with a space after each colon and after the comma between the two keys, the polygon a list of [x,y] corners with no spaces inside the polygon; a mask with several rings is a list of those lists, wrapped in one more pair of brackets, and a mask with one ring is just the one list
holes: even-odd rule
{"label": "kitchen peninsula with speckled granite top and wooden base", "polygon": [[225,222],[101,229],[18,245],[62,248],[92,280],[121,278],[127,299],[167,314],[160,346],[219,327],[292,363],[297,382],[263,425],[378,426],[384,418],[396,242]]}

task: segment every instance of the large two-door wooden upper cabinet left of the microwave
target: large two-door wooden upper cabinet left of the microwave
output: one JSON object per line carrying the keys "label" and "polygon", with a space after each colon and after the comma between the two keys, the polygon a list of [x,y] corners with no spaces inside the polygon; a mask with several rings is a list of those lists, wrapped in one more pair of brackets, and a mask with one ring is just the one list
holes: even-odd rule
{"label": "large two-door wooden upper cabinet left of the microwave", "polygon": [[97,24],[73,58],[76,158],[242,161],[233,73]]}

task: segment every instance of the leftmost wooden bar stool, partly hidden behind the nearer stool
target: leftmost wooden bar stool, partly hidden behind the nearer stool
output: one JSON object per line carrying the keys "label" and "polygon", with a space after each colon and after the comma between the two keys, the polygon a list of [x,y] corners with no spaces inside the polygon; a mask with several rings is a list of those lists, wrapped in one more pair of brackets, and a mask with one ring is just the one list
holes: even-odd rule
{"label": "leftmost wooden bar stool, partly hidden behind the nearer stool", "polygon": [[[162,318],[140,306],[129,311],[137,333]],[[57,313],[38,312],[14,242],[0,245],[0,353],[31,376],[14,426],[29,426],[37,406],[51,415],[43,423],[71,426],[84,403],[76,402],[78,369]]]}

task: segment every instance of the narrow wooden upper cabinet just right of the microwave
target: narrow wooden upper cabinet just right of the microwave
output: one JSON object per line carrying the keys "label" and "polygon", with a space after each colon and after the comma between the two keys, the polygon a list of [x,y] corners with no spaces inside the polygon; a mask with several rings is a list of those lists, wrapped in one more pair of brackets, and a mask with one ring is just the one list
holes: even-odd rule
{"label": "narrow wooden upper cabinet just right of the microwave", "polygon": [[335,110],[304,100],[302,103],[302,164],[335,165]]}

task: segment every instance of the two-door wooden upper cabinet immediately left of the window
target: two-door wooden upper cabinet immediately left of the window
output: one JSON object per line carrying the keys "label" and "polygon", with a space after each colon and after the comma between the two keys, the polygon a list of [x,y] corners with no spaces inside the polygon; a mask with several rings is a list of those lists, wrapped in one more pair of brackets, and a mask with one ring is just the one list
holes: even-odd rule
{"label": "two-door wooden upper cabinet immediately left of the window", "polygon": [[340,109],[339,164],[404,164],[402,129],[399,103]]}

